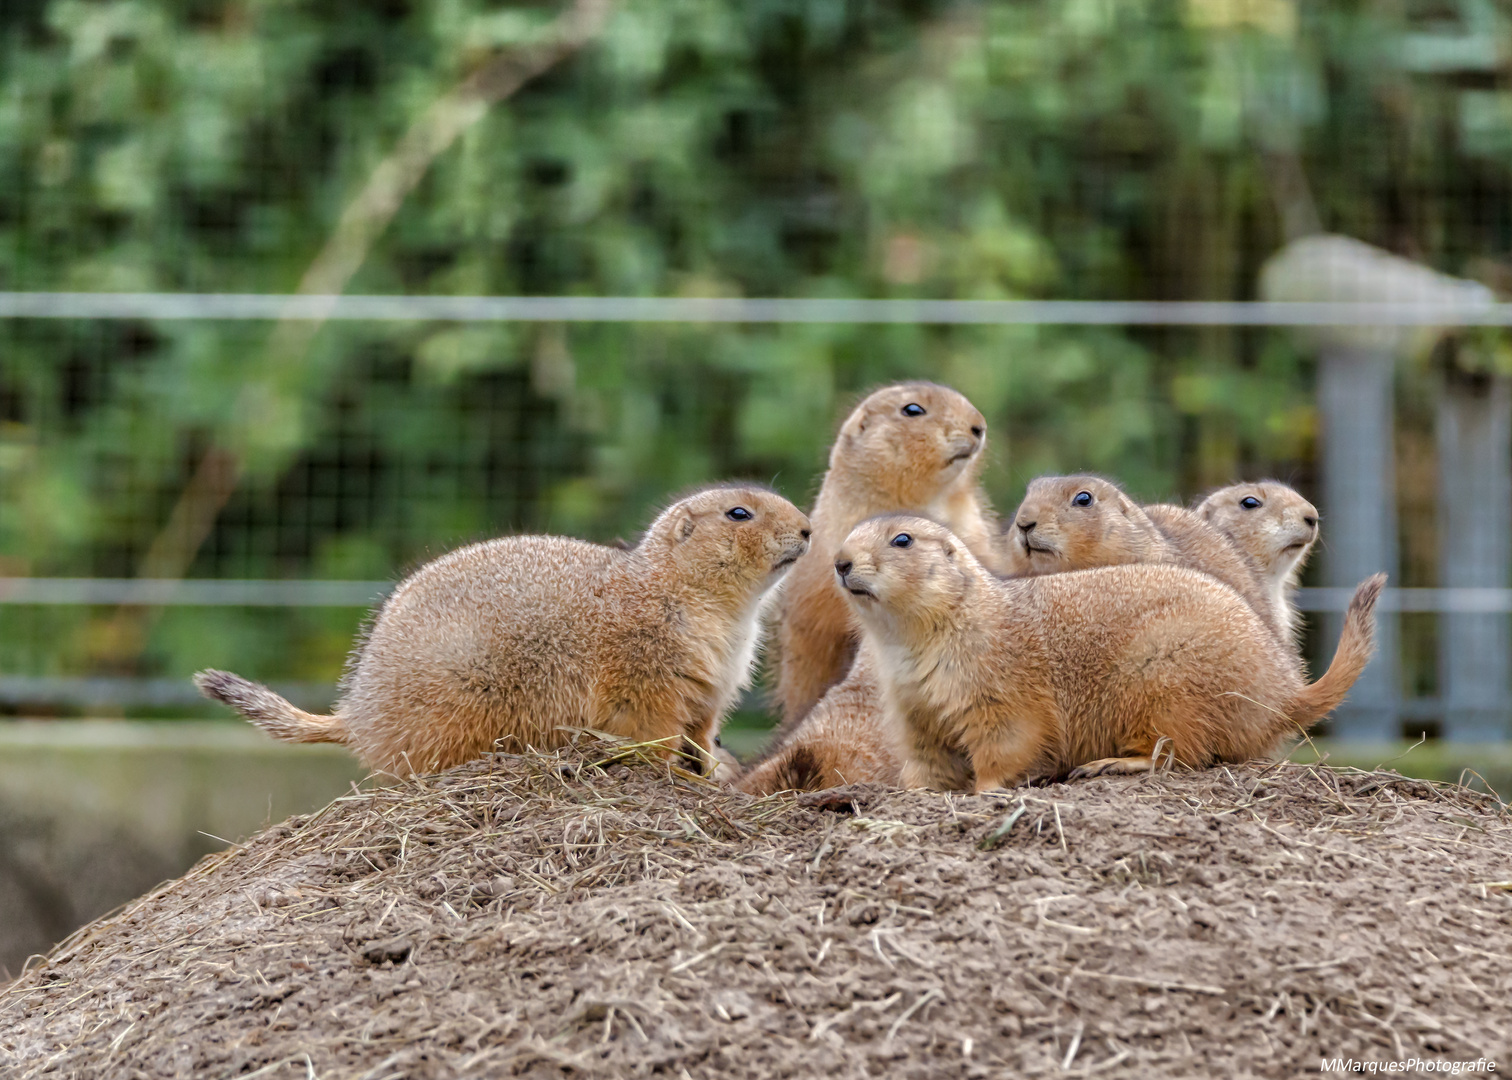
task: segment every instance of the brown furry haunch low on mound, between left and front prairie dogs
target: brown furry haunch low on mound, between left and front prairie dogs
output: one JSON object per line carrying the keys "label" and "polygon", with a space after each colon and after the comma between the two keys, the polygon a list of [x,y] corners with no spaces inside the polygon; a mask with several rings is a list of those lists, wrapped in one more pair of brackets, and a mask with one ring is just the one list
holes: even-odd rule
{"label": "brown furry haunch low on mound, between left and front prairie dogs", "polygon": [[753,796],[863,782],[898,787],[901,774],[898,746],[881,720],[881,691],[862,653],[792,735],[735,787]]}

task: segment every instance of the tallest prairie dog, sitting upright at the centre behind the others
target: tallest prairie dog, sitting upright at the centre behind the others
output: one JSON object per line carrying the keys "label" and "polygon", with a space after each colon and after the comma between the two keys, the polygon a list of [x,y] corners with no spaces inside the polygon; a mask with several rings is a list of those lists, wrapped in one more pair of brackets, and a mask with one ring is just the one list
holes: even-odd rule
{"label": "tallest prairie dog, sitting upright at the centre behind the others", "polygon": [[996,526],[977,486],[987,442],[981,413],[945,386],[900,383],[868,395],[841,425],[813,504],[813,546],[780,601],[777,697],[783,732],[850,667],[856,629],[832,563],[866,517],[910,510],[947,522],[989,566]]}

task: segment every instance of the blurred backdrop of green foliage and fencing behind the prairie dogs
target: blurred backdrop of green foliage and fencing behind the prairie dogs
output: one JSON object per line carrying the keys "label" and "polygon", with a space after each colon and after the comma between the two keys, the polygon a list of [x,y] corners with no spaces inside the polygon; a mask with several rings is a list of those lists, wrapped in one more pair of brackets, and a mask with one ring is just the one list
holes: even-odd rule
{"label": "blurred backdrop of green foliage and fencing behind the prairie dogs", "polygon": [[[1331,588],[1403,588],[1340,746],[1512,773],[1503,289],[1492,0],[9,0],[0,964],[361,776],[197,669],[325,708],[419,563],[715,478],[807,505],[904,377],[987,416],[1004,514],[1294,484],[1314,663]],[[584,303],[481,299],[525,296]]]}

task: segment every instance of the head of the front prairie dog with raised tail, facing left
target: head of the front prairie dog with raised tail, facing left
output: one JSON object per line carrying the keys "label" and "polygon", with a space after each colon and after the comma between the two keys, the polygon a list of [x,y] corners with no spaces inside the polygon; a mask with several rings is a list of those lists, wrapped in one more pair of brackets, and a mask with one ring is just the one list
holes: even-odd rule
{"label": "head of the front prairie dog with raised tail, facing left", "polygon": [[863,625],[892,631],[937,626],[987,572],[966,545],[928,517],[862,522],[835,554],[835,584]]}

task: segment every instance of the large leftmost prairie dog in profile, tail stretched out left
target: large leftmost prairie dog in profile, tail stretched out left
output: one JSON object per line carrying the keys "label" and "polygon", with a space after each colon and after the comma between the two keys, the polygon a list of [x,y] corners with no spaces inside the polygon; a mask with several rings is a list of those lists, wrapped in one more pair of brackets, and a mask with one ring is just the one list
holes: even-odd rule
{"label": "large leftmost prairie dog in profile, tail stretched out left", "polygon": [[809,519],[758,486],[667,508],[631,551],[525,535],[461,548],[383,604],[334,715],[227,672],[195,684],[274,738],[342,743],[390,773],[448,768],[494,744],[552,749],[559,728],[665,740],[712,762],[748,685],[762,608],[809,548]]}

